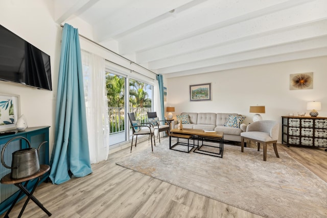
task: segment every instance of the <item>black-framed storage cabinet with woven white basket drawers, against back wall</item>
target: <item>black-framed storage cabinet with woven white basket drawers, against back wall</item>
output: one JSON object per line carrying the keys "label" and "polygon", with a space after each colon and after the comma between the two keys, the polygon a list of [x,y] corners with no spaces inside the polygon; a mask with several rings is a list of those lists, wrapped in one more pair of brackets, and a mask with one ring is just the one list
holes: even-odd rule
{"label": "black-framed storage cabinet with woven white basket drawers, against back wall", "polygon": [[282,116],[282,142],[288,147],[327,147],[327,118]]}

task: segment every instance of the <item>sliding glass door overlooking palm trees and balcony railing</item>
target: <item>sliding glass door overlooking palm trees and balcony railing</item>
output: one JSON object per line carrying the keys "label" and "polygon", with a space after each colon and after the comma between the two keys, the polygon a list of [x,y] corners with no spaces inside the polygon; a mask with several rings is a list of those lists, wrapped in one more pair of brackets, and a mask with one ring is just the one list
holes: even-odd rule
{"label": "sliding glass door overlooking palm trees and balcony railing", "polygon": [[109,145],[112,146],[131,139],[132,131],[127,112],[134,112],[136,119],[142,122],[148,121],[147,112],[151,112],[153,108],[153,85],[106,72],[106,89],[110,124]]}

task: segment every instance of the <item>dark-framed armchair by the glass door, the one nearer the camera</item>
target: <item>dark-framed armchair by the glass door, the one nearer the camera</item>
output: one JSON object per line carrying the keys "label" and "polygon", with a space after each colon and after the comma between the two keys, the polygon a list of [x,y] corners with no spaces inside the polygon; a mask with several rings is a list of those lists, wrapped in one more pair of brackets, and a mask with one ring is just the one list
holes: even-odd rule
{"label": "dark-framed armchair by the glass door, the one nearer the camera", "polygon": [[[132,131],[133,131],[132,143],[131,143],[131,152],[132,152],[132,147],[133,147],[134,135],[136,136],[135,147],[136,147],[136,144],[137,144],[137,136],[139,136],[139,135],[149,135],[149,139],[151,139],[151,149],[152,149],[152,152],[153,152],[152,137],[153,137],[154,146],[155,146],[153,124],[152,123],[140,123],[140,125],[133,124],[133,121],[136,121],[134,113],[128,113],[128,118],[129,118],[129,121],[130,121],[130,124],[131,124],[131,127],[132,127]],[[139,129],[139,131],[136,131],[135,128],[140,128],[140,129]]]}

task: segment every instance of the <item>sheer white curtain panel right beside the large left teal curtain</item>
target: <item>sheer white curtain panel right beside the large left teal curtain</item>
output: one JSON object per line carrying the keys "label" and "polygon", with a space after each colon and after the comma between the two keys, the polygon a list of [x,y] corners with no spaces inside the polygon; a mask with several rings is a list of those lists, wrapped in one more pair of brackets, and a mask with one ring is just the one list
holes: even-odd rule
{"label": "sheer white curtain panel right beside the large left teal curtain", "polygon": [[81,53],[90,161],[98,163],[109,154],[105,59],[84,50]]}

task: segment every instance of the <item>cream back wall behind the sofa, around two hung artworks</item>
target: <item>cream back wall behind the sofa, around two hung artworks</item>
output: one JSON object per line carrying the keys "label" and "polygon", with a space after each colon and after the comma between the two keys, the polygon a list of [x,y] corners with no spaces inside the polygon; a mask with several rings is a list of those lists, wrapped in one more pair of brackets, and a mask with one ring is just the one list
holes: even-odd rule
{"label": "cream back wall behind the sofa, around two hung artworks", "polygon": [[[250,105],[265,105],[264,120],[282,122],[281,116],[306,112],[308,101],[321,101],[319,116],[327,117],[327,57],[287,61],[262,66],[167,79],[167,104],[175,113],[239,113],[252,122]],[[290,90],[290,74],[313,72],[312,90]],[[212,83],[212,101],[189,100],[189,85]],[[281,135],[279,136],[281,141]]]}

